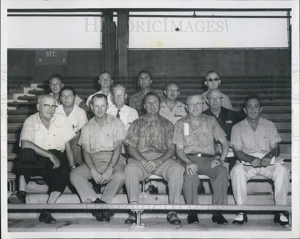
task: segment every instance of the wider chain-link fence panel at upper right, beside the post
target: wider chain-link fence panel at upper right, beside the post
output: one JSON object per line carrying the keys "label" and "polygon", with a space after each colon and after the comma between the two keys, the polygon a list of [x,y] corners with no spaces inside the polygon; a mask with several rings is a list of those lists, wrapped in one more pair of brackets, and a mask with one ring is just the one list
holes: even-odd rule
{"label": "wider chain-link fence panel at upper right, beside the post", "polygon": [[130,12],[129,49],[287,48],[287,11]]}

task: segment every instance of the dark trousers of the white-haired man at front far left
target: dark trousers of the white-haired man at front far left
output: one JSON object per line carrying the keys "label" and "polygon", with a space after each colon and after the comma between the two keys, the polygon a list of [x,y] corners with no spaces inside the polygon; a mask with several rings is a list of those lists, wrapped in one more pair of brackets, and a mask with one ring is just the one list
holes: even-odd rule
{"label": "dark trousers of the white-haired man at front far left", "polygon": [[41,176],[49,186],[48,193],[64,192],[70,177],[70,167],[68,166],[66,153],[51,149],[48,150],[53,153],[59,160],[60,166],[53,169],[53,163],[49,158],[38,155],[35,150],[31,148],[24,148],[21,150],[20,161],[15,162],[13,167],[17,177],[23,175],[26,183],[29,182],[30,177]]}

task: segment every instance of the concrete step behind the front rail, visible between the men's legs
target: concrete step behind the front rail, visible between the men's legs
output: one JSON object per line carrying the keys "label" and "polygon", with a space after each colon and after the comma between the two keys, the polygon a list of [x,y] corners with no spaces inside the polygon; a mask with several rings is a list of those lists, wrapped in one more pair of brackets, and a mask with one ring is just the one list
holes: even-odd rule
{"label": "concrete step behind the front rail, visible between the men's legs", "polygon": [[[98,194],[99,198],[101,198],[102,194]],[[28,193],[26,197],[27,203],[46,203],[48,198],[48,194],[41,194],[41,193]],[[212,203],[212,195],[198,195],[199,204],[211,204]],[[287,204],[291,204],[291,194],[287,196]],[[56,203],[80,203],[79,197],[76,194],[62,194]],[[128,203],[127,195],[126,194],[117,194],[114,198],[112,203]],[[140,194],[140,201],[139,204],[168,204],[168,195],[151,195],[151,194]],[[184,204],[183,195],[181,196],[181,203]],[[228,204],[235,204],[234,198],[232,195],[228,195]],[[267,193],[256,193],[247,195],[247,204],[262,204],[262,205],[274,205],[274,195],[267,194]],[[157,208],[159,209],[159,208]],[[115,217],[128,217],[128,211],[120,210],[116,211]],[[143,213],[142,218],[149,218],[155,216],[162,216],[165,217],[167,212],[160,212],[159,210],[150,213]],[[38,210],[21,210],[19,212],[10,211],[8,212],[8,218],[38,218],[40,212]],[[58,210],[51,213],[52,216],[56,219],[59,218],[92,218],[91,211],[88,210]],[[200,215],[200,217],[210,218],[211,214],[204,213]],[[250,212],[248,215],[251,214]],[[234,219],[236,212],[229,211],[226,213],[226,218]],[[178,216],[180,218],[186,218],[186,214],[184,211],[180,211]],[[251,215],[252,219],[263,219],[263,218],[273,218],[273,214],[260,212],[260,213],[253,213]]]}

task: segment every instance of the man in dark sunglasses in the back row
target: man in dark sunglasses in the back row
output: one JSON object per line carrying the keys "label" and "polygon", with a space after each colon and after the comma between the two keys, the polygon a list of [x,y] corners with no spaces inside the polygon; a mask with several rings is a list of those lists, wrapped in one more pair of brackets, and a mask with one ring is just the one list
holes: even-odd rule
{"label": "man in dark sunglasses in the back row", "polygon": [[[219,77],[219,74],[215,71],[208,71],[205,76],[205,81],[204,84],[207,86],[207,91],[202,93],[202,97],[206,100],[207,99],[207,94],[210,92],[212,89],[218,89],[218,86],[220,85],[221,80]],[[222,106],[226,109],[232,110],[232,105],[229,100],[229,97],[225,94],[222,93]],[[203,105],[203,110],[208,109],[208,102],[205,101],[205,104]]]}

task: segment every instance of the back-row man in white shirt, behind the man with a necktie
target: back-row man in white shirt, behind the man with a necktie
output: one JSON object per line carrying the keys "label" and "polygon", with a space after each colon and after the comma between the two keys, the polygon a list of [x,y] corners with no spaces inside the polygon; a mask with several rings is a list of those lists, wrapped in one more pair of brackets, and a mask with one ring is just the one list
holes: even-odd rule
{"label": "back-row man in white shirt, behind the man with a necktie", "polygon": [[91,100],[94,95],[104,94],[107,96],[108,107],[107,109],[113,105],[113,96],[111,93],[111,86],[113,84],[112,76],[108,71],[102,71],[98,80],[99,85],[101,86],[101,90],[92,94],[88,97],[86,101],[86,105],[88,106],[88,120],[94,117],[93,110],[91,109]]}

